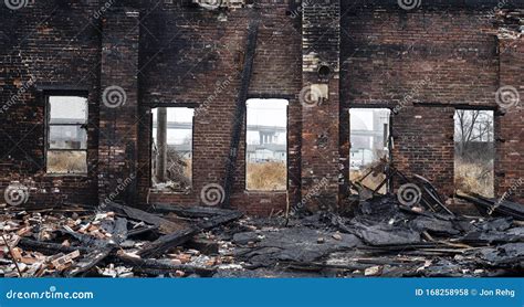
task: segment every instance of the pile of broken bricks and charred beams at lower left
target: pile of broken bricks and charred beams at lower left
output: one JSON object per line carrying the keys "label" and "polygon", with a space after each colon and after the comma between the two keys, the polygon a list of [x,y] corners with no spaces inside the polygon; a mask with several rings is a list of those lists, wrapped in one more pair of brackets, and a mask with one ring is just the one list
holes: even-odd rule
{"label": "pile of broken bricks and charred beams at lower left", "polygon": [[209,231],[241,216],[233,210],[178,207],[150,213],[116,203],[96,210],[6,208],[0,276],[211,276],[231,260],[221,257]]}

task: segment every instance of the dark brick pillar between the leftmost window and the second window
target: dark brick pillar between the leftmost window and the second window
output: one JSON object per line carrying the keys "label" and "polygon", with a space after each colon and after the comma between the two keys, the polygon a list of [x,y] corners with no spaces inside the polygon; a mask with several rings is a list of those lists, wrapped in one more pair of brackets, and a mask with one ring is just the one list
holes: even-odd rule
{"label": "dark brick pillar between the leftmost window and the second window", "polygon": [[136,200],[138,11],[106,12],[102,35],[98,198]]}

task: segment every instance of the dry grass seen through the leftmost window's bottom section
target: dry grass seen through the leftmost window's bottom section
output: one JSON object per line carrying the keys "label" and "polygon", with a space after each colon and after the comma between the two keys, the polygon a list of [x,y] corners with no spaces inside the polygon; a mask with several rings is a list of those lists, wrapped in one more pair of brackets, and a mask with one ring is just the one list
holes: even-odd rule
{"label": "dry grass seen through the leftmost window's bottom section", "polygon": [[86,173],[85,151],[49,151],[48,172],[50,173]]}

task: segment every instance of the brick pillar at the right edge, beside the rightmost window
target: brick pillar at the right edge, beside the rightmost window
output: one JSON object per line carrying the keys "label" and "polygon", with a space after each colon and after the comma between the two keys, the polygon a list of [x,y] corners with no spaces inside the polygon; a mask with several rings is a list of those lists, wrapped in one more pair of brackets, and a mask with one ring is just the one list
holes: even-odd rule
{"label": "brick pillar at the right edge, beside the rightmost window", "polygon": [[499,51],[495,193],[524,202],[524,40],[501,39]]}

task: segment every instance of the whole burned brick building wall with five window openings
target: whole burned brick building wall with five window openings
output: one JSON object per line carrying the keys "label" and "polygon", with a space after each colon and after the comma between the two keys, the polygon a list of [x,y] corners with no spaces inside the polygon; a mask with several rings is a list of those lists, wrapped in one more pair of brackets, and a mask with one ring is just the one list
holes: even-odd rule
{"label": "whole burned brick building wall with five window openings", "polygon": [[[495,194],[523,201],[523,20],[517,0],[6,0],[1,189],[34,204],[335,208],[350,110],[385,108],[395,166],[452,197],[454,113],[482,109]],[[286,100],[285,189],[245,188],[248,99]],[[158,108],[192,112],[184,191],[151,189]]]}

